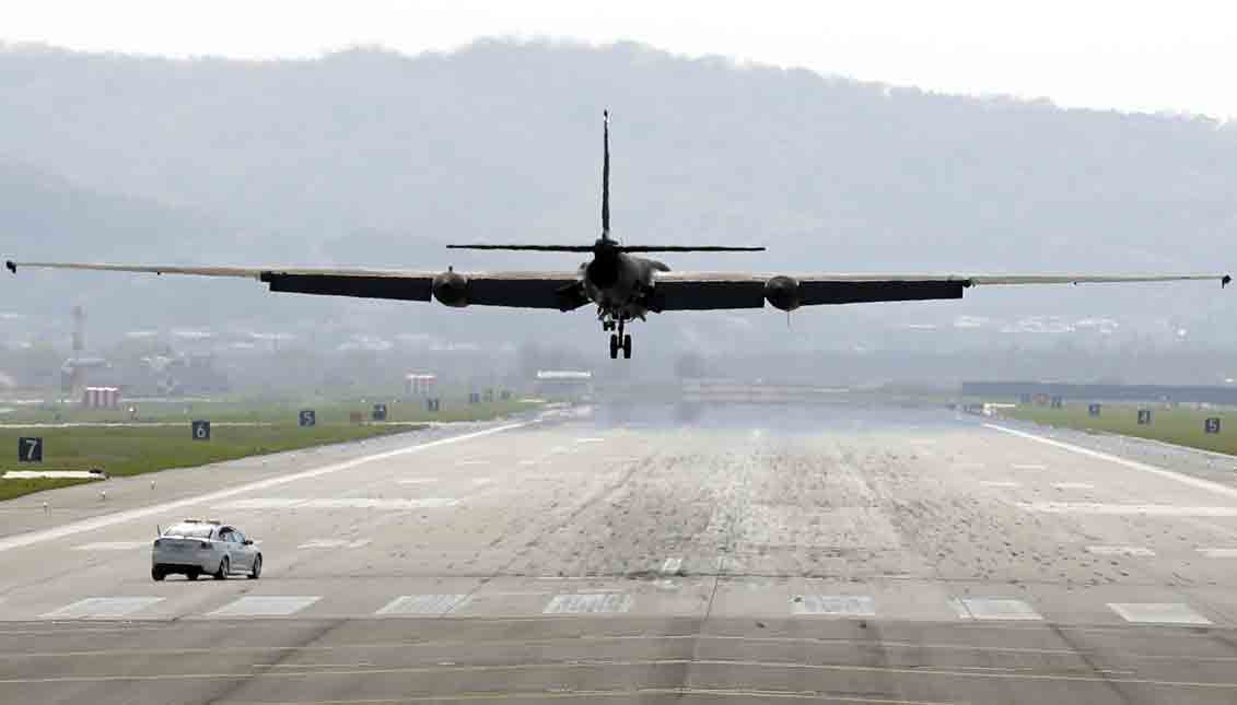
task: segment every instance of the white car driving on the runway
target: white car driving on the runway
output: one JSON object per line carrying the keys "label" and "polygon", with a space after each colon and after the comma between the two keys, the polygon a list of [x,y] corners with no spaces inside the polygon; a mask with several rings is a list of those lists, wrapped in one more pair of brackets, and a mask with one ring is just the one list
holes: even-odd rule
{"label": "white car driving on the runway", "polygon": [[151,547],[151,578],[162,580],[173,573],[189,580],[203,573],[215,580],[241,573],[256,580],[262,575],[262,552],[236,527],[184,519],[169,526]]}

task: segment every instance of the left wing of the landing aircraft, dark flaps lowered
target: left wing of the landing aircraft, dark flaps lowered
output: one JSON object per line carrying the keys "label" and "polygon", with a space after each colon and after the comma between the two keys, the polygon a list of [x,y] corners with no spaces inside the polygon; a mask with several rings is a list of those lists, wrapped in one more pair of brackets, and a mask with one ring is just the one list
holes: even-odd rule
{"label": "left wing of the landing aircraft, dark flaps lowered", "polygon": [[[19,268],[88,270],[151,275],[190,275],[256,280],[273,292],[430,301],[438,272],[301,267],[186,267],[178,265],[106,265],[89,262],[14,262]],[[468,303],[510,308],[571,310],[588,303],[574,272],[458,272],[468,282]]]}

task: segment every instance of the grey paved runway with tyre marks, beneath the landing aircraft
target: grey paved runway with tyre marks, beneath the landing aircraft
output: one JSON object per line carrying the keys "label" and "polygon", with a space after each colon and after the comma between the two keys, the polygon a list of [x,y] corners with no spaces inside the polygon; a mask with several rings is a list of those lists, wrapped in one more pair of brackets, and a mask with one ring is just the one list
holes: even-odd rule
{"label": "grey paved runway with tyre marks, beneath the landing aircraft", "polygon": [[[9,502],[0,701],[1237,701],[1237,463],[931,409],[669,418]],[[262,579],[151,581],[188,516]]]}

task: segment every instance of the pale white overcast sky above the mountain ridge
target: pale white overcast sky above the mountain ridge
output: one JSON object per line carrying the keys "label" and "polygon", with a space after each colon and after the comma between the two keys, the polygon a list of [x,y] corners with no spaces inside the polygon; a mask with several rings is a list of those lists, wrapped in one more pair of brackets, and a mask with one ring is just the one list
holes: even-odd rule
{"label": "pale white overcast sky above the mountain ridge", "polygon": [[0,40],[77,49],[312,57],[476,37],[635,40],[951,93],[1237,115],[1231,0],[10,0]]}

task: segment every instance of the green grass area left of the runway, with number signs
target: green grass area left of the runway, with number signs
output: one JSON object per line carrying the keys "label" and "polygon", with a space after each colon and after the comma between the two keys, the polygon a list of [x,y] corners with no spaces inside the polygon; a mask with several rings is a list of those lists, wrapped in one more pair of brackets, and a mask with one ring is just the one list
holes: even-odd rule
{"label": "green grass area left of the runway, with number signs", "polygon": [[[366,402],[198,402],[187,404],[141,404],[139,423],[118,427],[73,428],[0,428],[0,470],[89,470],[103,468],[111,476],[141,475],[169,468],[192,468],[234,460],[249,455],[296,450],[376,435],[388,435],[418,428],[428,421],[486,421],[520,412],[532,404],[494,402],[469,404],[443,401],[439,413],[428,413],[424,404],[391,402],[387,423],[350,423],[349,414],[361,412],[370,418],[372,403]],[[150,408],[148,408],[150,407]],[[317,425],[302,428],[298,411],[312,408]],[[57,414],[59,414],[57,417]],[[213,422],[210,440],[194,440],[190,419]],[[126,411],[99,411],[68,407],[22,409],[20,417],[5,414],[0,423],[92,423],[130,422]],[[142,424],[140,422],[151,422]],[[156,425],[176,423],[176,425]],[[262,425],[218,425],[216,422],[245,422]],[[41,437],[43,461],[17,463],[17,439]],[[89,480],[0,480],[0,500],[30,492],[64,487]]]}

